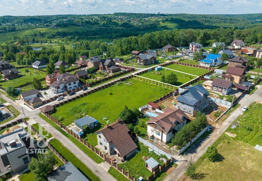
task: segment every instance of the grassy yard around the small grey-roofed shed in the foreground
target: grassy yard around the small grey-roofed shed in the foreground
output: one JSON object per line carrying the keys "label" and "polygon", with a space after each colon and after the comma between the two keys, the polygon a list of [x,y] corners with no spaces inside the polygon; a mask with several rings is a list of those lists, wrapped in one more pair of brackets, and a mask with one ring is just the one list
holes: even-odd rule
{"label": "grassy yard around the small grey-roofed shed in the foreground", "polygon": [[123,168],[124,171],[129,171],[129,174],[132,177],[135,177],[137,180],[140,176],[144,179],[152,175],[145,167],[145,161],[142,159],[143,156],[153,157],[160,165],[164,165],[164,162],[160,159],[160,156],[155,154],[153,151],[149,151],[148,147],[144,146],[143,143],[137,143],[139,152],[135,154],[130,160],[123,164],[118,164],[118,167]]}

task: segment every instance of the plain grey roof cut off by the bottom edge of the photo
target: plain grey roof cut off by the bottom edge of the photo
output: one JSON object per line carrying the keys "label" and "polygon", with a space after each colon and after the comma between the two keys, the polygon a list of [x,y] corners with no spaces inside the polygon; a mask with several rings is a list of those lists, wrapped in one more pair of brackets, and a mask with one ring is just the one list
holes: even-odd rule
{"label": "plain grey roof cut off by the bottom edge of the photo", "polygon": [[47,175],[48,181],[89,181],[70,161]]}

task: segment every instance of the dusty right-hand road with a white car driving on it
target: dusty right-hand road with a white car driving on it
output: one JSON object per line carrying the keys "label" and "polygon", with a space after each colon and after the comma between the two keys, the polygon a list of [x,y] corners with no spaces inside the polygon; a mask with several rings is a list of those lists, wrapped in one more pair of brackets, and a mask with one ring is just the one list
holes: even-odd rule
{"label": "dusty right-hand road with a white car driving on it", "polygon": [[223,132],[232,124],[232,122],[237,118],[237,116],[242,115],[242,106],[249,106],[249,104],[253,102],[262,101],[262,86],[257,85],[259,88],[252,94],[252,95],[245,95],[240,101],[239,106],[234,112],[228,116],[228,118],[223,122],[223,124],[216,128],[211,135],[209,135],[205,140],[199,142],[198,144],[194,145],[186,155],[184,156],[177,156],[176,164],[178,164],[177,168],[169,174],[164,180],[165,181],[173,181],[178,180],[184,173],[185,167],[188,165],[190,157],[192,157],[193,162],[196,162],[206,151],[206,149],[211,146],[217,138],[219,138]]}

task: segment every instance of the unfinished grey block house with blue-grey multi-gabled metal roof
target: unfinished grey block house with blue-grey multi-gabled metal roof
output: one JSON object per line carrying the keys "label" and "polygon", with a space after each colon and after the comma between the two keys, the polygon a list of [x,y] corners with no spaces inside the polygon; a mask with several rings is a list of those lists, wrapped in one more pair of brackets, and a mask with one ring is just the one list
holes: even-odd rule
{"label": "unfinished grey block house with blue-grey multi-gabled metal roof", "polygon": [[195,116],[209,104],[208,91],[201,84],[184,87],[184,91],[177,97],[177,107],[182,111]]}

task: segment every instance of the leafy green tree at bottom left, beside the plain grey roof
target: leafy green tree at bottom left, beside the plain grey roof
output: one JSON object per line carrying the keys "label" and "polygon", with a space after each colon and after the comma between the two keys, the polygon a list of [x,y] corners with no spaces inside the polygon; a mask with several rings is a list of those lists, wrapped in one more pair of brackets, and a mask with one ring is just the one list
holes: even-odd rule
{"label": "leafy green tree at bottom left, beside the plain grey roof", "polygon": [[56,165],[56,159],[54,154],[49,151],[48,153],[38,153],[37,159],[31,157],[31,162],[28,164],[28,168],[34,173],[35,181],[47,180],[46,175],[51,173]]}

